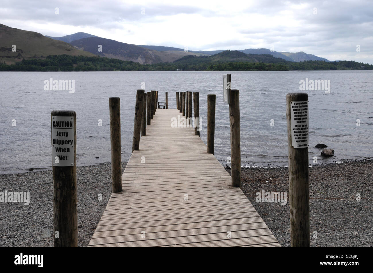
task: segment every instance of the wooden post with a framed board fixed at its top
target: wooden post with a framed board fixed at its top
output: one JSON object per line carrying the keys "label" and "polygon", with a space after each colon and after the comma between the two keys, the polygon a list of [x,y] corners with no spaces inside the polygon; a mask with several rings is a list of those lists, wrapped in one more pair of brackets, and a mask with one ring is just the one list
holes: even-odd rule
{"label": "wooden post with a framed board fixed at its top", "polygon": [[241,187],[241,136],[239,126],[239,91],[237,89],[231,90],[229,121],[231,124],[232,187]]}

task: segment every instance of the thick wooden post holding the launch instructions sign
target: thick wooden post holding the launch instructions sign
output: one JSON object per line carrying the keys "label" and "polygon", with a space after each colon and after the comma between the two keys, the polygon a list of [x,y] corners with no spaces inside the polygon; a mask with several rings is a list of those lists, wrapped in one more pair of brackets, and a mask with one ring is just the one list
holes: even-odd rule
{"label": "thick wooden post holding the launch instructions sign", "polygon": [[297,101],[308,101],[307,93],[288,93],[286,95],[289,150],[290,244],[292,247],[310,247],[308,147],[293,148],[296,144],[292,143],[291,138],[291,107]]}

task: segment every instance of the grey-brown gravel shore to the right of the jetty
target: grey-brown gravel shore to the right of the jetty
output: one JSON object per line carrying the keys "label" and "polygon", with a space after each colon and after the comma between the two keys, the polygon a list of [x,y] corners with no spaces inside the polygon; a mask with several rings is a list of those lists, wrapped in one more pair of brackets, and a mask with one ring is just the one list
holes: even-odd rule
{"label": "grey-brown gravel shore to the right of the jetty", "polygon": [[[311,247],[373,246],[372,178],[372,160],[309,168]],[[288,179],[288,168],[241,169],[242,191],[283,247],[290,247]],[[262,190],[286,192],[286,205],[257,202]]]}

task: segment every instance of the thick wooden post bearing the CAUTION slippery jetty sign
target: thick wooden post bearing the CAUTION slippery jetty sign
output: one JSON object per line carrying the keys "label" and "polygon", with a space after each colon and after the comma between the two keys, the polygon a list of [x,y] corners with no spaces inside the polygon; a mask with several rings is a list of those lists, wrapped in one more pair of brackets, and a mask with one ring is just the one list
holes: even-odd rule
{"label": "thick wooden post bearing the CAUTION slippery jetty sign", "polygon": [[[58,147],[56,146],[68,146],[69,149],[72,150],[69,152],[68,156],[73,156],[71,163],[68,162],[66,164],[62,164],[61,160],[56,162],[57,159],[52,156],[53,225],[54,235],[56,232],[58,232],[59,235],[59,238],[53,236],[54,247],[78,247],[78,207],[76,204],[76,113],[75,111],[52,111],[50,115],[52,155],[53,149],[57,152]],[[59,117],[65,118],[61,118],[60,120]],[[70,125],[53,123],[53,121],[56,120],[66,120],[70,123],[72,121],[73,129]],[[74,143],[72,145],[53,144],[53,140],[58,138],[56,137],[56,130],[58,132],[69,130],[70,134],[73,133],[73,136],[64,137],[64,139],[66,140],[68,138],[73,140]],[[73,155],[71,155],[71,152],[73,152]],[[59,166],[59,164],[63,166]]]}

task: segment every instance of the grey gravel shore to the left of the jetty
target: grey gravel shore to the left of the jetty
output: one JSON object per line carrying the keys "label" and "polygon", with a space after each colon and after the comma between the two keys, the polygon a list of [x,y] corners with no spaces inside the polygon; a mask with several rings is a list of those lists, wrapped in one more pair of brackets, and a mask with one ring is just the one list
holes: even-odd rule
{"label": "grey gravel shore to the left of the jetty", "polygon": [[[126,162],[122,163],[124,170]],[[78,246],[86,247],[112,193],[111,164],[76,168]],[[0,191],[29,191],[30,203],[0,203],[0,247],[53,247],[52,171],[0,175]],[[102,194],[102,201],[98,200]],[[44,234],[44,236],[43,236]]]}

